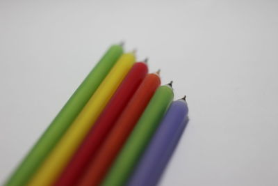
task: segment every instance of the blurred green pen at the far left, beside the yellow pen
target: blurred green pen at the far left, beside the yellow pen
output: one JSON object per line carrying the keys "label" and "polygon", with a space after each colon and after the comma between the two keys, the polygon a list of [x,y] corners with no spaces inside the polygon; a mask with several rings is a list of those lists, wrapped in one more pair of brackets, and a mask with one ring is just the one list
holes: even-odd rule
{"label": "blurred green pen at the far left, beside the yellow pen", "polygon": [[108,49],[95,68],[92,69],[79,88],[76,89],[63,109],[60,110],[35,146],[33,146],[21,164],[19,164],[13,175],[10,176],[6,183],[7,186],[25,185],[28,182],[60,137],[70,127],[81,109],[83,109],[95,93],[99,84],[101,84],[122,53],[123,49],[120,45],[113,45]]}

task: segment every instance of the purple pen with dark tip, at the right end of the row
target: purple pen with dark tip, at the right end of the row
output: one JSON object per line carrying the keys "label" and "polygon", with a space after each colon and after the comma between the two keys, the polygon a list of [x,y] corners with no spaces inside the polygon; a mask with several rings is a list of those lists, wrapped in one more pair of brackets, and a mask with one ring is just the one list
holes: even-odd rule
{"label": "purple pen with dark tip, at the right end of the row", "polygon": [[163,173],[188,121],[185,98],[172,102],[129,180],[129,186],[154,186]]}

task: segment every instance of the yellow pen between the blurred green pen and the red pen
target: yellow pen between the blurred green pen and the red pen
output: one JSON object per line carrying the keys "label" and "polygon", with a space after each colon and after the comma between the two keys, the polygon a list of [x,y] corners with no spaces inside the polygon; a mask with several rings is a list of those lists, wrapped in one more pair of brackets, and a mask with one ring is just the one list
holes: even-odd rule
{"label": "yellow pen between the blurred green pen and the red pen", "polygon": [[120,57],[28,185],[43,186],[54,183],[113,93],[115,93],[122,79],[131,69],[134,61],[135,56],[131,53],[123,54]]}

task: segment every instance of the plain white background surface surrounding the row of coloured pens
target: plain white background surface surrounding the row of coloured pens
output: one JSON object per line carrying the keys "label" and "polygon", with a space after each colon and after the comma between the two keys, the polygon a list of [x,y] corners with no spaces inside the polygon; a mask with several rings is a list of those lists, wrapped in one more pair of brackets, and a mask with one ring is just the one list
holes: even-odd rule
{"label": "plain white background surface surrounding the row of coloured pens", "polygon": [[0,181],[113,42],[188,95],[161,185],[278,185],[278,1],[0,1]]}

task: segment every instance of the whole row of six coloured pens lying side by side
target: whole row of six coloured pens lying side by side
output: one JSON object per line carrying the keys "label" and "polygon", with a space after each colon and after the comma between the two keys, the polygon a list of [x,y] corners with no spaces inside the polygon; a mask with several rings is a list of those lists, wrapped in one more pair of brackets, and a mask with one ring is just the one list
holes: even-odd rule
{"label": "whole row of six coloured pens lying side by side", "polygon": [[172,82],[112,45],[6,185],[146,186],[158,183],[188,122]]}

